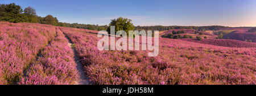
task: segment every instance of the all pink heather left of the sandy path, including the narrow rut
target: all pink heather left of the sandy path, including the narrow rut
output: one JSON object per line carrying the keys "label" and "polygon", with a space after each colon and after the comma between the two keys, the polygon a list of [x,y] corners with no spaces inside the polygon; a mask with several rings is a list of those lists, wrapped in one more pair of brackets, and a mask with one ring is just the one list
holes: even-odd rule
{"label": "all pink heather left of the sandy path, including the narrow rut", "polygon": [[0,22],[1,84],[75,84],[74,53],[59,28]]}

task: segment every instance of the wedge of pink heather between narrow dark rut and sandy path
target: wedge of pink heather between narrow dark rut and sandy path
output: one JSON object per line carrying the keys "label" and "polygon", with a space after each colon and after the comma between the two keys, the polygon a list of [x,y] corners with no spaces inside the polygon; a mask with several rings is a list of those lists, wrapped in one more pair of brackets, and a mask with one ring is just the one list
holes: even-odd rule
{"label": "wedge of pink heather between narrow dark rut and sandy path", "polygon": [[73,51],[64,34],[57,29],[57,36],[42,51],[42,56],[28,69],[20,84],[49,85],[75,84],[78,78]]}

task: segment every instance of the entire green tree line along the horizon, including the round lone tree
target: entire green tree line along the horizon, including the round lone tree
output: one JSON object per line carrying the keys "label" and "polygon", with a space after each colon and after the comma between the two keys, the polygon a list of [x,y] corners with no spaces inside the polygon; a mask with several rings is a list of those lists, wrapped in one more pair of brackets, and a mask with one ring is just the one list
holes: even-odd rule
{"label": "entire green tree line along the horizon, including the round lone tree", "polygon": [[[121,19],[120,19],[121,18]],[[27,7],[22,9],[19,5],[15,5],[15,3],[10,4],[1,4],[0,5],[0,21],[9,21],[10,23],[40,23],[40,24],[50,24],[60,27],[71,27],[71,28],[82,28],[82,29],[91,29],[91,30],[109,30],[110,25],[115,25],[119,29],[135,29],[135,30],[170,30],[170,29],[196,29],[200,31],[204,30],[217,30],[219,28],[224,28],[224,26],[204,26],[204,27],[195,27],[195,26],[137,26],[135,27],[131,23],[131,19],[126,19],[119,17],[118,19],[113,19],[109,25],[94,25],[94,24],[78,24],[78,23],[63,23],[59,22],[56,17],[52,15],[47,15],[45,17],[41,17],[36,15],[36,10],[32,7]],[[115,21],[115,22],[113,22]],[[119,22],[119,23],[118,23]],[[117,25],[121,24],[121,22],[126,22],[129,26],[126,25]],[[129,22],[129,23],[128,23]],[[115,23],[115,24],[114,24]],[[122,27],[122,28],[121,28]]]}

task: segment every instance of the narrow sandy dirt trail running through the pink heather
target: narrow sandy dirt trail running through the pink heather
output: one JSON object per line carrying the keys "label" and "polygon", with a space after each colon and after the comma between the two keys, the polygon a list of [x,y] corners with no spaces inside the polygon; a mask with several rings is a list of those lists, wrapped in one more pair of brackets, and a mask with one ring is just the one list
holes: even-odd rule
{"label": "narrow sandy dirt trail running through the pink heather", "polygon": [[79,71],[79,80],[76,82],[76,85],[92,85],[93,83],[85,75],[84,68],[79,60],[79,56],[77,56],[76,50],[72,47],[73,43],[69,40],[67,36],[65,36],[65,38],[67,38],[68,40],[68,46],[71,47],[71,49],[73,50],[75,62],[77,64],[76,69]]}

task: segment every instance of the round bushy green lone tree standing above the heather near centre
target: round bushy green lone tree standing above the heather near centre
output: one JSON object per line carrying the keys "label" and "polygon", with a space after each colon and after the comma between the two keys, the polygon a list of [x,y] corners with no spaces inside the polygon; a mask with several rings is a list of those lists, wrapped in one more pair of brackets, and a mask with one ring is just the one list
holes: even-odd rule
{"label": "round bushy green lone tree standing above the heather near centre", "polygon": [[111,20],[109,24],[108,32],[110,33],[110,26],[115,26],[115,32],[118,30],[125,30],[128,34],[129,30],[134,30],[134,25],[131,23],[131,19],[119,17],[117,19]]}

